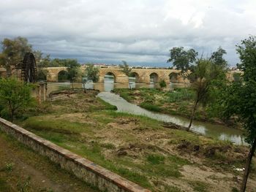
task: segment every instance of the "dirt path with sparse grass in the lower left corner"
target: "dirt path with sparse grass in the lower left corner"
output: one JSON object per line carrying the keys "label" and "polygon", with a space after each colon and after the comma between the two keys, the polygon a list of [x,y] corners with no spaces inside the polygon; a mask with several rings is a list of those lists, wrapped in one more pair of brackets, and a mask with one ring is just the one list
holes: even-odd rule
{"label": "dirt path with sparse grass in the lower left corner", "polygon": [[1,132],[0,146],[0,191],[94,191]]}

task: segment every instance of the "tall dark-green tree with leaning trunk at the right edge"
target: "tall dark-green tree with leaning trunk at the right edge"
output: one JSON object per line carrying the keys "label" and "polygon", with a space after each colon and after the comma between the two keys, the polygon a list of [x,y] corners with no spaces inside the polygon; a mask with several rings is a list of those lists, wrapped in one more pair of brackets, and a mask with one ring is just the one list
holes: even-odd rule
{"label": "tall dark-green tree with leaning trunk at the right edge", "polygon": [[241,60],[238,67],[244,74],[242,81],[235,81],[227,86],[222,99],[223,115],[236,115],[246,130],[246,142],[251,145],[246,160],[241,191],[246,190],[252,156],[256,148],[256,37],[249,37],[237,45],[237,52]]}

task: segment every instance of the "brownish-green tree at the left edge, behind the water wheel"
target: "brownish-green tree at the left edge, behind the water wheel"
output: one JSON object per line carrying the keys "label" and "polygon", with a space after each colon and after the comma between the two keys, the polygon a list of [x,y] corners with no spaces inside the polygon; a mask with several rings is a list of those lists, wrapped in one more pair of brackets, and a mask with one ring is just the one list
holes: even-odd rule
{"label": "brownish-green tree at the left edge, behind the water wheel", "polygon": [[32,51],[32,45],[24,37],[4,39],[1,42],[2,53],[0,54],[0,66],[7,70],[7,77],[12,75],[12,68],[23,60],[27,52]]}

